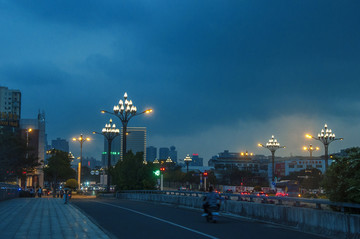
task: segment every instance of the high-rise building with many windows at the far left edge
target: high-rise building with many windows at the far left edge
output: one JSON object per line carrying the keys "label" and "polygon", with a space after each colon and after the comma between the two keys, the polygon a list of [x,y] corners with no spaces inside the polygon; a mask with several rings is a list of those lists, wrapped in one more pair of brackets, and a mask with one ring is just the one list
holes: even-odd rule
{"label": "high-rise building with many windows at the far left edge", "polygon": [[0,87],[0,126],[19,127],[21,92]]}

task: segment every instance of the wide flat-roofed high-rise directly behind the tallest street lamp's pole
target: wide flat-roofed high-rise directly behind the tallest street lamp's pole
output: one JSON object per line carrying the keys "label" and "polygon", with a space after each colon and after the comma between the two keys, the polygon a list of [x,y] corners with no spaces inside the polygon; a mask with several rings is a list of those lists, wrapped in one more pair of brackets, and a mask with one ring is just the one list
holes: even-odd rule
{"label": "wide flat-roofed high-rise directly behind the tallest street lamp's pole", "polygon": [[[138,152],[144,153],[144,161],[146,160],[146,128],[145,127],[127,127],[126,150],[132,151],[134,154]],[[121,158],[123,158],[123,148],[121,143]]]}

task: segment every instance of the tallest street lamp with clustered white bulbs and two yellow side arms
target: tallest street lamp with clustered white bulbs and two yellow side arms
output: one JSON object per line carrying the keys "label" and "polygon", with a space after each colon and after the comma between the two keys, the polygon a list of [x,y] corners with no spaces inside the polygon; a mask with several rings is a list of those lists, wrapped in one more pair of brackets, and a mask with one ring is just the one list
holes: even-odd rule
{"label": "tallest street lamp with clustered white bulbs and two yellow side arms", "polygon": [[141,113],[137,113],[137,108],[133,104],[131,100],[128,100],[127,93],[124,94],[124,100],[120,100],[118,105],[115,105],[113,108],[114,112],[109,112],[106,110],[102,110],[101,113],[108,113],[115,115],[118,117],[122,123],[123,129],[122,129],[122,158],[124,158],[126,154],[126,135],[127,135],[127,125],[129,123],[129,120],[133,118],[134,116],[138,116],[141,114],[150,114],[152,112],[152,109],[147,109]]}

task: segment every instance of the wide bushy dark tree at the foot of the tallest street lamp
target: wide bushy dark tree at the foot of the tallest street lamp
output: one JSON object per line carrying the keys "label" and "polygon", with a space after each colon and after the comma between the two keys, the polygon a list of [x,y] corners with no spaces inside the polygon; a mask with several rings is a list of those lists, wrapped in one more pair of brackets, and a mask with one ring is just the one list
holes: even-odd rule
{"label": "wide bushy dark tree at the foot of the tallest street lamp", "polygon": [[155,189],[156,178],[153,174],[155,166],[143,163],[143,153],[134,155],[129,151],[115,168],[110,170],[112,184],[117,190]]}

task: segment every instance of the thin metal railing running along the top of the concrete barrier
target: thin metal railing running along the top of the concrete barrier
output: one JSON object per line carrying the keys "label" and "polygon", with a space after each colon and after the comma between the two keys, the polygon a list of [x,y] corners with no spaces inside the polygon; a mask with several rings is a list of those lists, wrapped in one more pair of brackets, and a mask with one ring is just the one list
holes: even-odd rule
{"label": "thin metal railing running along the top of the concrete barrier", "polygon": [[[164,194],[173,196],[187,196],[187,197],[203,197],[208,192],[197,191],[159,191],[159,190],[123,190],[118,193],[137,193],[137,194]],[[346,202],[332,202],[327,199],[308,199],[297,197],[278,197],[278,196],[257,196],[257,195],[242,195],[233,193],[220,193],[225,200],[233,201],[248,201],[254,203],[271,203],[276,205],[291,205],[291,206],[303,206],[316,209],[322,209],[322,206],[336,207],[340,211],[345,212],[346,209],[360,210],[360,204],[346,203]]]}

